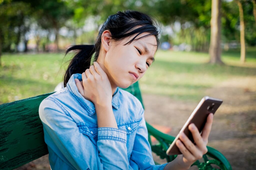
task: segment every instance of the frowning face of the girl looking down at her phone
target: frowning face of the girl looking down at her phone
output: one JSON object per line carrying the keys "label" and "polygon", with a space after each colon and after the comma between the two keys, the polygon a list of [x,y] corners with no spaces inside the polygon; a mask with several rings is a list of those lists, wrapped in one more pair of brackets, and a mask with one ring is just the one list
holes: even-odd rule
{"label": "frowning face of the girl looking down at her phone", "polygon": [[[147,34],[149,33],[144,32],[135,39]],[[143,77],[154,60],[157,49],[156,37],[151,35],[124,45],[134,36],[121,41],[110,40],[109,48],[105,51],[104,71],[112,86],[115,84],[121,88],[129,87]],[[131,73],[137,74],[137,79]]]}

